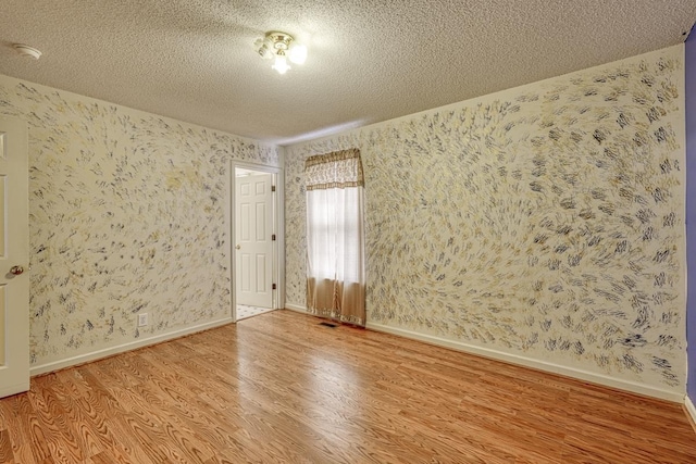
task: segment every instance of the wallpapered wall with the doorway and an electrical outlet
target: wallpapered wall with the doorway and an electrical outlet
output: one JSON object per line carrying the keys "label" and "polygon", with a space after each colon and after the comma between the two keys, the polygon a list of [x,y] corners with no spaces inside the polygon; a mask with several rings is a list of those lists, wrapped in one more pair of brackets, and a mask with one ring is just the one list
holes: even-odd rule
{"label": "wallpapered wall with the doorway and an electrical outlet", "polygon": [[5,76],[0,114],[29,127],[33,364],[229,316],[227,163],[275,147]]}

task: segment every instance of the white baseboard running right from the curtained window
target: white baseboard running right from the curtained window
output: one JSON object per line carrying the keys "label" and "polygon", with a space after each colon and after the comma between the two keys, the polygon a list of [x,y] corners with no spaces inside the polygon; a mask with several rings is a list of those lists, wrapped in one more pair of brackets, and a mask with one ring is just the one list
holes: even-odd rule
{"label": "white baseboard running right from the curtained window", "polygon": [[[385,334],[391,334],[399,337],[410,338],[413,340],[424,341],[426,343],[436,344],[438,347],[450,348],[453,350],[462,351],[470,354],[475,354],[483,358],[490,358],[497,361],[505,361],[512,364],[522,365],[525,367],[532,367],[539,371],[546,371],[554,374],[563,375],[567,377],[576,378],[579,380],[588,381],[592,384],[599,384],[607,387],[618,388],[620,390],[631,391],[633,393],[645,394],[647,397],[659,398],[662,400],[673,401],[675,403],[684,402],[684,392],[676,392],[671,390],[664,390],[661,388],[649,387],[634,381],[620,380],[613,377],[609,377],[601,374],[595,374],[583,369],[562,366],[560,364],[548,363],[545,361],[538,361],[531,358],[520,356],[517,354],[505,353],[502,351],[493,350],[490,348],[476,347],[461,341],[447,340],[445,338],[435,337],[425,334],[419,334],[417,331],[407,330],[402,328],[389,327],[382,324],[374,324],[368,322],[365,328],[376,331],[383,331]],[[693,404],[692,404],[693,407]],[[696,410],[692,413],[696,417]]]}

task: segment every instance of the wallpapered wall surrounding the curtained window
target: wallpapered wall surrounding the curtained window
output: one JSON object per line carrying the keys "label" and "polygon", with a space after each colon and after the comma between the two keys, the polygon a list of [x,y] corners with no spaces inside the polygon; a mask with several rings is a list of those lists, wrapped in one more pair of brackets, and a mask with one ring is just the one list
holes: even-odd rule
{"label": "wallpapered wall surrounding the curtained window", "polygon": [[683,47],[296,145],[361,150],[368,321],[684,390]]}

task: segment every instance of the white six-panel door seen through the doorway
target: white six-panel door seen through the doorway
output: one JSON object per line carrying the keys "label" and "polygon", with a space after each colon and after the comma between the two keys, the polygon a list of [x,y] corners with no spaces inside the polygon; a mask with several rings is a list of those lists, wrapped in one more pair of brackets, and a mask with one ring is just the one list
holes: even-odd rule
{"label": "white six-panel door seen through the doorway", "polygon": [[235,178],[237,304],[273,308],[272,174]]}

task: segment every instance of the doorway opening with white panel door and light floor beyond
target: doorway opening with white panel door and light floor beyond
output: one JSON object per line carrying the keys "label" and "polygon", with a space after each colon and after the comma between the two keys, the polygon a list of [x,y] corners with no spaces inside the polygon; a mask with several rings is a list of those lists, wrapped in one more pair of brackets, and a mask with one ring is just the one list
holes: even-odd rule
{"label": "doorway opening with white panel door and light floor beyond", "polygon": [[233,318],[281,308],[282,198],[278,168],[233,163]]}

